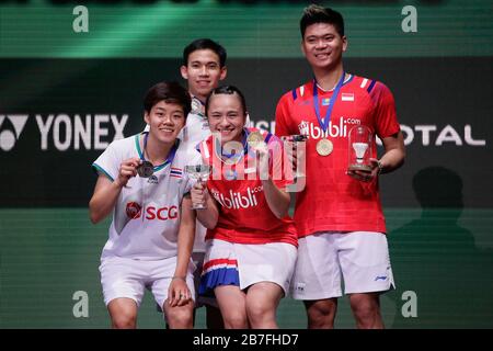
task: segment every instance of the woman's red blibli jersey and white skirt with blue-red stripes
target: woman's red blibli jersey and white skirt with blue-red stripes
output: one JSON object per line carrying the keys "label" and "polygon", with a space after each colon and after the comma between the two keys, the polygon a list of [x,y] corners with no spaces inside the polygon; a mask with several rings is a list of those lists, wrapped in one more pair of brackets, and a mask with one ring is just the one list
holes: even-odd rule
{"label": "woman's red blibli jersey and white skirt with blue-red stripes", "polygon": [[[210,136],[199,145],[206,163],[213,167],[207,190],[218,203],[219,218],[206,235],[206,256],[199,294],[213,295],[219,285],[238,285],[241,290],[267,281],[288,293],[297,257],[297,235],[293,219],[279,219],[268,208],[262,180],[256,176],[256,155],[245,139],[254,128],[245,128],[242,149],[231,162],[218,155],[220,146]],[[290,183],[274,174],[282,151],[280,140],[262,132],[274,160],[271,177],[279,189]],[[239,157],[238,157],[239,156]]]}

